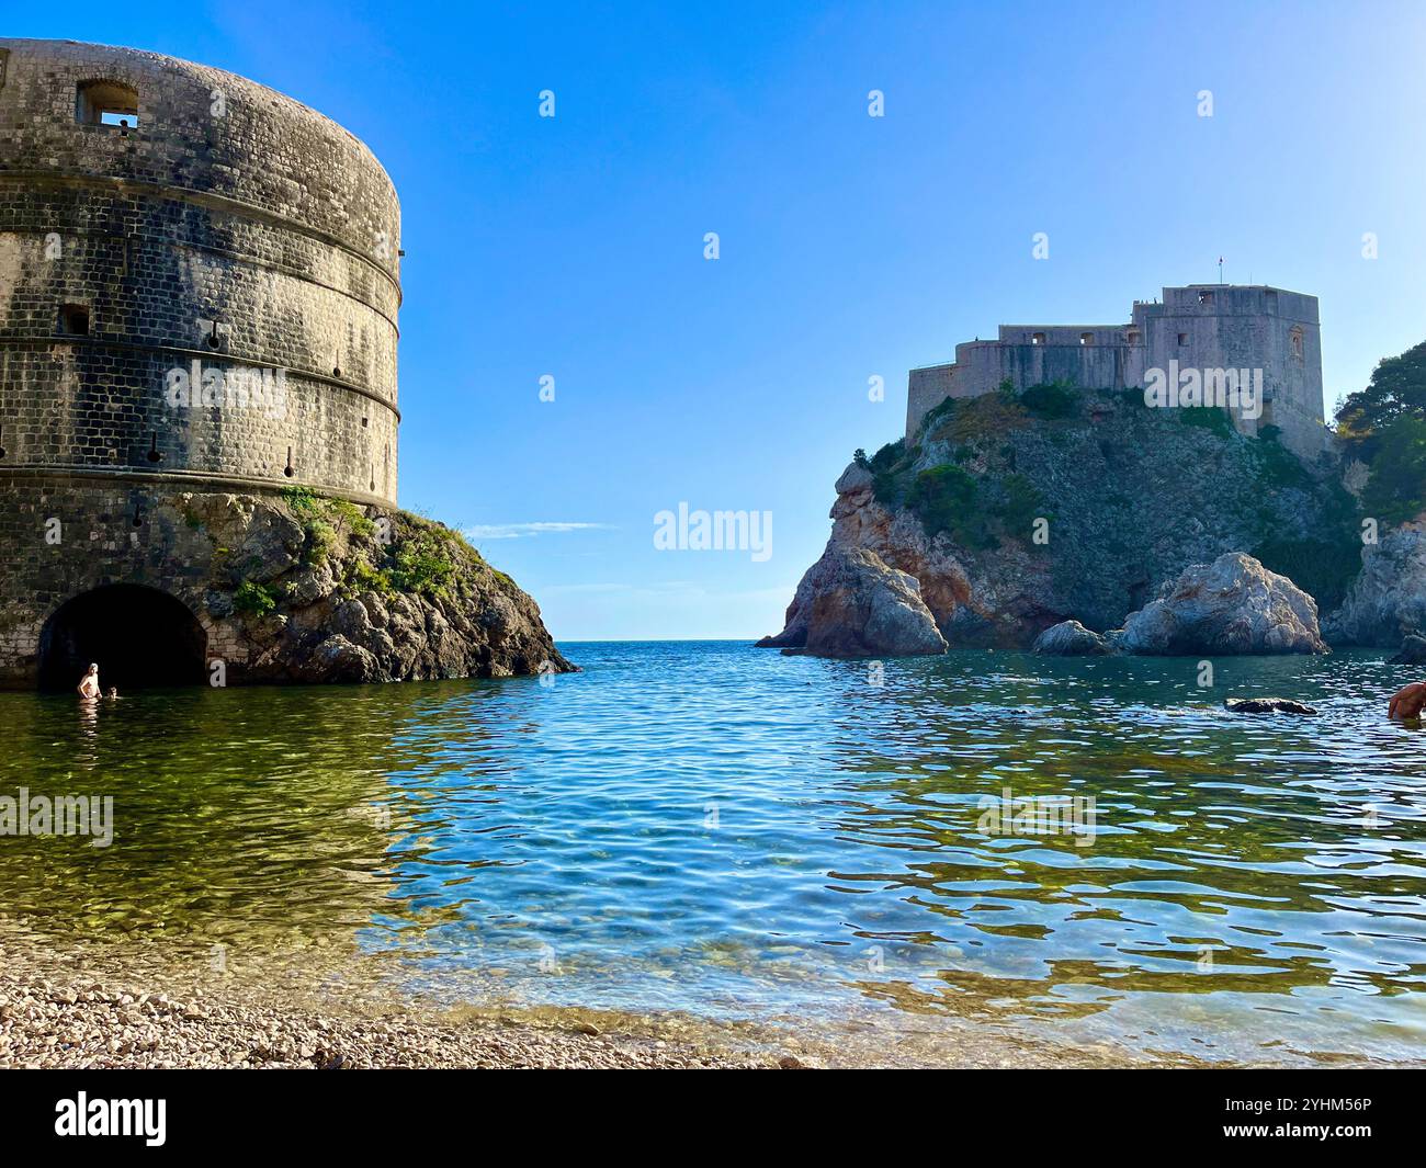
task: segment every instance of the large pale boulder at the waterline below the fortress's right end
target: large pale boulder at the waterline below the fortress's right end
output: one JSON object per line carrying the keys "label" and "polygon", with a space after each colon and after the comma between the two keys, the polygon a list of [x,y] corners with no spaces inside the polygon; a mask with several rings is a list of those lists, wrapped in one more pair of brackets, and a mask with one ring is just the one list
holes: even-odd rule
{"label": "large pale boulder at the waterline below the fortress's right end", "polygon": [[1125,653],[1156,656],[1326,653],[1316,602],[1252,556],[1229,552],[1159,589],[1124,622]]}

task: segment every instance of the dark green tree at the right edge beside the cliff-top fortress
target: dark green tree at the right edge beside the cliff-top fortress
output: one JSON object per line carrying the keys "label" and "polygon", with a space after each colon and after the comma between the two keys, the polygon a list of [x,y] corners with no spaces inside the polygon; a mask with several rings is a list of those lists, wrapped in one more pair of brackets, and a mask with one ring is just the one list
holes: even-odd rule
{"label": "dark green tree at the right edge beside the cliff-top fortress", "polygon": [[1426,511],[1426,341],[1383,358],[1336,419],[1348,449],[1372,471],[1366,511],[1393,523]]}

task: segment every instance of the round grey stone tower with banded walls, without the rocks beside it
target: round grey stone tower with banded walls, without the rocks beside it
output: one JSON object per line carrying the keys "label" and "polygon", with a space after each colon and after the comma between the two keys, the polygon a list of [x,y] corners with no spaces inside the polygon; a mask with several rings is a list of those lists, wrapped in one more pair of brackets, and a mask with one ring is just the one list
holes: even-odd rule
{"label": "round grey stone tower with banded walls, without the rocks beside it", "polygon": [[190,640],[240,652],[175,492],[394,506],[399,237],[371,151],[279,93],[0,39],[0,683],[53,656],[73,686],[60,609],[123,583],[154,595],[91,626],[177,602]]}

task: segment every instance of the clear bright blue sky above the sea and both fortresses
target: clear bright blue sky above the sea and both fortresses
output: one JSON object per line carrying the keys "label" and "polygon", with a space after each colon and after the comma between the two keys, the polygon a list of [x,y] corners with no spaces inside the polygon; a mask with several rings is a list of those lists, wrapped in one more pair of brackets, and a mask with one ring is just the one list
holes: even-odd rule
{"label": "clear bright blue sky above the sea and both fortresses", "polygon": [[[556,637],[776,632],[906,371],[1001,321],[1122,321],[1222,254],[1320,298],[1329,405],[1426,339],[1420,4],[513,7],[3,27],[228,68],[372,147],[406,250],[401,501],[475,531]],[[773,555],[655,550],[680,501],[773,512]]]}

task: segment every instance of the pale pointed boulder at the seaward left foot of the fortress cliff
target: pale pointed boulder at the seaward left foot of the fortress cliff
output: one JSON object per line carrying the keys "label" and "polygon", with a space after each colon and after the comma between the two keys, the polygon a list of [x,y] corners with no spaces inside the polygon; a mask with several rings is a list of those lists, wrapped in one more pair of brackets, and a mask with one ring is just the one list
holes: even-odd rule
{"label": "pale pointed boulder at the seaward left foot of the fortress cliff", "polygon": [[[945,652],[915,576],[888,568],[876,552],[829,548],[809,575],[814,585],[799,652],[816,657]],[[760,643],[767,642],[776,639]]]}

